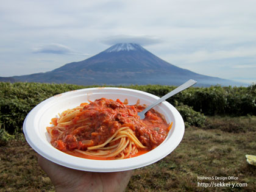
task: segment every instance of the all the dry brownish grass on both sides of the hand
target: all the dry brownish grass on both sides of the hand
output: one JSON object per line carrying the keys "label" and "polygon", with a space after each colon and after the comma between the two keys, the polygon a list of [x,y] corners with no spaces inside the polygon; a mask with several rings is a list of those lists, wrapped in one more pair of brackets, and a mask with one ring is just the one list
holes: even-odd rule
{"label": "all the dry brownish grass on both sides of the hand", "polygon": [[[180,145],[167,157],[135,169],[126,191],[256,191],[256,118],[211,117],[202,128],[188,127]],[[0,191],[54,191],[26,141],[0,146]],[[200,180],[197,177],[238,177]],[[198,182],[247,183],[247,187],[198,187]]]}

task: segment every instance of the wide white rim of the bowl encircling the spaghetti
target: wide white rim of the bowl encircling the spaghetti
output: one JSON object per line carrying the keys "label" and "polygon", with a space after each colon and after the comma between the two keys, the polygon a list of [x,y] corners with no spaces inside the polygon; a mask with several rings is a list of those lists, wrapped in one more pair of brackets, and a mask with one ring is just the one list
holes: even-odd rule
{"label": "wide white rim of the bowl encircling the spaghetti", "polygon": [[[168,138],[163,141],[160,146],[147,152],[146,154],[139,155],[137,157],[126,158],[122,160],[91,160],[87,158],[75,157],[73,155],[68,155],[58,149],[55,149],[48,140],[41,138],[42,132],[45,130],[40,130],[38,127],[38,121],[40,121],[41,116],[44,115],[51,107],[57,102],[65,101],[72,98],[72,96],[81,96],[81,94],[87,94],[87,98],[96,94],[132,94],[133,96],[141,96],[151,100],[157,100],[158,97],[154,94],[147,93],[140,90],[133,90],[131,88],[119,88],[119,87],[96,87],[96,88],[83,88],[80,90],[67,91],[65,93],[60,93],[51,98],[45,99],[36,105],[26,116],[23,123],[23,132],[27,143],[36,151],[38,154],[44,158],[50,160],[51,162],[57,163],[68,168],[78,169],[82,171],[92,171],[92,172],[115,172],[115,171],[126,171],[130,169],[141,168],[143,166],[150,165],[157,162],[158,160],[166,157],[170,154],[180,143],[185,132],[185,125],[182,116],[169,102],[163,101],[162,107],[168,108],[172,113],[172,118],[174,124],[172,124],[172,129],[168,134]],[[104,97],[104,96],[102,96]],[[129,98],[127,98],[129,101]],[[62,112],[61,110],[59,112]],[[43,118],[42,118],[43,119]],[[49,119],[49,122],[51,119]],[[36,127],[36,128],[35,128]],[[46,133],[47,134],[47,133]],[[166,147],[168,146],[168,147]],[[157,151],[158,150],[158,151]]]}

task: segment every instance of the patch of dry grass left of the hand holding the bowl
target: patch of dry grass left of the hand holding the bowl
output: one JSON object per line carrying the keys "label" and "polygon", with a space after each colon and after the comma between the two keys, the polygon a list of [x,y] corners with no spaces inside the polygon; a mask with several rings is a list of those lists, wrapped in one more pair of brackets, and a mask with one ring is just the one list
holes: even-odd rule
{"label": "patch of dry grass left of the hand holding the bowl", "polygon": [[0,147],[0,191],[54,191],[26,141]]}

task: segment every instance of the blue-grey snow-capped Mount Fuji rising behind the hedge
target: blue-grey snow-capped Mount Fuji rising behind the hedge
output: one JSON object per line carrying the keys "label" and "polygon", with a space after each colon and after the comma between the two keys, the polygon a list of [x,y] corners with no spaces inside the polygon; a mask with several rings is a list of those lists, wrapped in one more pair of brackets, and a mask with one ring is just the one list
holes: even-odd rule
{"label": "blue-grey snow-capped Mount Fuji rising behind the hedge", "polygon": [[180,85],[188,79],[197,86],[242,83],[204,76],[165,62],[136,43],[118,43],[80,62],[72,62],[46,73],[9,77],[15,82],[47,82],[77,85]]}

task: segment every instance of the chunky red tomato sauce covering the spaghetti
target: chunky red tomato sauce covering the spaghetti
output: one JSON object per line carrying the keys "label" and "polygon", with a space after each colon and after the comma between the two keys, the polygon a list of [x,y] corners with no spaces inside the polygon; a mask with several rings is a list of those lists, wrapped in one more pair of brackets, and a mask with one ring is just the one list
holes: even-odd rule
{"label": "chunky red tomato sauce covering the spaghetti", "polygon": [[[80,111],[71,120],[72,124],[65,126],[64,132],[47,127],[48,132],[51,132],[52,145],[71,155],[97,159],[79,154],[74,149],[85,151],[90,146],[102,144],[121,127],[130,127],[138,140],[146,146],[137,155],[151,151],[165,140],[171,126],[160,113],[151,109],[144,119],[140,119],[137,113],[146,106],[124,103],[119,99],[113,101],[101,98],[90,104],[81,104]],[[52,124],[57,126],[58,119],[53,118]]]}

